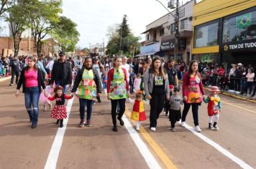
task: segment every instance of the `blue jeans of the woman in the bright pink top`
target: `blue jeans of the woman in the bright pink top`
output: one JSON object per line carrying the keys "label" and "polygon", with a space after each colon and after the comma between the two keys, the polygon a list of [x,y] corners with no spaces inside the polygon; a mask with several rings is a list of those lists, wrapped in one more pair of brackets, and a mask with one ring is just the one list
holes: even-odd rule
{"label": "blue jeans of the woman in the bright pink top", "polygon": [[39,114],[39,88],[38,87],[26,87],[25,88],[25,107],[29,114],[30,120],[32,120],[32,126],[37,125],[38,114]]}

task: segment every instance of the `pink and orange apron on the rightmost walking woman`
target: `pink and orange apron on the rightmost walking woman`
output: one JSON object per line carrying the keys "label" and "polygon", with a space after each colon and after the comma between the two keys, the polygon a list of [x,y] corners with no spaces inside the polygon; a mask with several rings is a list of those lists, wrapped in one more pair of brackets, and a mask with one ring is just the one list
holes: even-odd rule
{"label": "pink and orange apron on the rightmost walking woman", "polygon": [[185,95],[188,98],[187,103],[199,103],[202,102],[202,95],[200,91],[200,78],[196,75],[191,74],[189,78],[189,84],[185,91]]}

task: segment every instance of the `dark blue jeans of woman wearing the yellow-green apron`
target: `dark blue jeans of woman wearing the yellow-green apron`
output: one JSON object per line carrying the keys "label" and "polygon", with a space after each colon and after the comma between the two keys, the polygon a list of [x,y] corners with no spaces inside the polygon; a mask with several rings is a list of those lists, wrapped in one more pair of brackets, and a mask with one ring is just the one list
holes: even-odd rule
{"label": "dark blue jeans of woman wearing the yellow-green apron", "polygon": [[79,99],[80,103],[80,119],[85,119],[85,110],[87,107],[87,118],[86,120],[91,120],[91,112],[93,110],[93,100],[87,100],[87,99]]}

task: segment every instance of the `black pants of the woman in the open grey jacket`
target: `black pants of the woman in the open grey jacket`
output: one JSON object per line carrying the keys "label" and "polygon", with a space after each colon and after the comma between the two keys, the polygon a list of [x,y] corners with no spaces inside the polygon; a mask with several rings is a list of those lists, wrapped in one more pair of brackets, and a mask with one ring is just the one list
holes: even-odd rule
{"label": "black pants of the woman in the open grey jacket", "polygon": [[165,95],[151,95],[150,100],[150,127],[157,127],[157,119],[165,105]]}

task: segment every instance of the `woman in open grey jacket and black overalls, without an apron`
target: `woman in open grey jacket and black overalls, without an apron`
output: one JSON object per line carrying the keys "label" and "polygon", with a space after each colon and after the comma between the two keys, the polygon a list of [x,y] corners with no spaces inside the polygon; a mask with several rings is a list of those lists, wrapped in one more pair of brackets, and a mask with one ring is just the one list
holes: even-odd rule
{"label": "woman in open grey jacket and black overalls, without an apron", "polygon": [[144,87],[145,95],[150,100],[150,130],[155,131],[157,119],[165,104],[165,98],[170,100],[168,75],[161,66],[160,57],[155,57],[150,69],[145,72]]}

